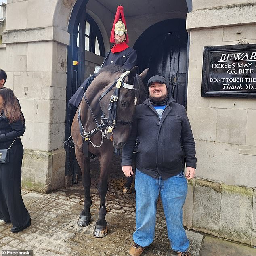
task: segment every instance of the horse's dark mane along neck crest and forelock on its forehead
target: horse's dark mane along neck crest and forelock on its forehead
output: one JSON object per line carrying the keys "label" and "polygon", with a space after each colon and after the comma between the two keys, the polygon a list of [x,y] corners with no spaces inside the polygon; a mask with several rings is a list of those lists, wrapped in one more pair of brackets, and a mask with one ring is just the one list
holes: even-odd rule
{"label": "horse's dark mane along neck crest and forelock on its forehead", "polygon": [[[108,73],[114,74],[114,73],[124,73],[126,71],[129,71],[129,69],[126,69],[120,65],[107,65],[97,73],[97,76],[102,72],[108,72]],[[136,76],[134,77],[133,86],[135,90],[129,90],[128,93],[135,94],[138,100],[142,102],[147,96],[147,90],[138,74],[136,74]]]}

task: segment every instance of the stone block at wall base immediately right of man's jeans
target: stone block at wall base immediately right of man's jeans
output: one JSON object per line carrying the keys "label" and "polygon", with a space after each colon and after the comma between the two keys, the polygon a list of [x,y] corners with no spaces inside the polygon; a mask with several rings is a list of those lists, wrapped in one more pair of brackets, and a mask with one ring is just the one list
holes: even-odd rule
{"label": "stone block at wall base immediately right of man's jeans", "polygon": [[196,180],[193,206],[193,227],[197,230],[219,235],[221,184]]}

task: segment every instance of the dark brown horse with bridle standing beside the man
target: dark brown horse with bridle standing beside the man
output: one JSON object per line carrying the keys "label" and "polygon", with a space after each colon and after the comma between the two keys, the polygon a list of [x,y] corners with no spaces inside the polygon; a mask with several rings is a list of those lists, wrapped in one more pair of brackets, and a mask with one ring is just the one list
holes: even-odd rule
{"label": "dark brown horse with bridle standing beside the man", "polygon": [[92,154],[97,155],[101,166],[98,183],[101,204],[94,237],[107,235],[105,197],[113,149],[122,148],[128,139],[136,105],[145,93],[142,79],[148,69],[140,75],[136,74],[137,70],[138,67],[130,71],[116,65],[104,67],[86,90],[72,123],[71,134],[84,185],[84,209],[78,218],[78,226],[89,225],[91,219]]}

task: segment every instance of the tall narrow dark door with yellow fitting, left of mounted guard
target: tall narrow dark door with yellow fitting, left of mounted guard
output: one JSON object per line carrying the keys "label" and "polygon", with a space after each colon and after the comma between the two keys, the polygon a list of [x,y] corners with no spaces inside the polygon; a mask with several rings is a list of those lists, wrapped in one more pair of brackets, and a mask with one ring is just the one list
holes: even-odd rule
{"label": "tall narrow dark door with yellow fitting, left of mounted guard", "polygon": [[[66,122],[65,122],[65,140],[71,136],[71,125],[76,110],[68,106],[68,101],[76,92],[82,82],[84,82],[84,62],[85,62],[85,21],[86,21],[86,3],[88,0],[78,0],[73,8],[73,13],[69,22],[70,45],[67,56],[67,90],[66,90]],[[78,37],[79,26],[79,37]],[[79,38],[79,39],[78,39]],[[78,47],[79,46],[79,47]],[[75,150],[65,146],[66,162],[65,176],[66,185],[78,182],[80,168],[75,157]]]}

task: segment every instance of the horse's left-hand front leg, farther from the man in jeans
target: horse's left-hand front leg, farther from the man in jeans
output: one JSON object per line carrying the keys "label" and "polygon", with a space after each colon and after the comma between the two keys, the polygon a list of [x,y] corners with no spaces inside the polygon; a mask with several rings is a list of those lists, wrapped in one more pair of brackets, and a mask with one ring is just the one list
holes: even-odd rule
{"label": "horse's left-hand front leg, farther from the man in jeans", "polygon": [[91,186],[91,174],[90,174],[90,159],[84,157],[84,154],[76,148],[76,159],[82,171],[82,181],[84,185],[84,209],[80,213],[77,225],[85,227],[90,224],[91,216],[90,207],[92,205],[90,186]]}

